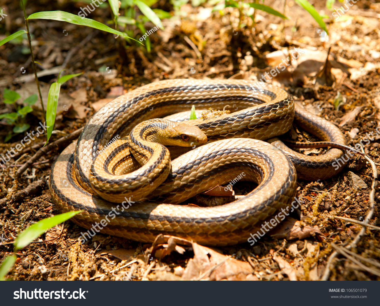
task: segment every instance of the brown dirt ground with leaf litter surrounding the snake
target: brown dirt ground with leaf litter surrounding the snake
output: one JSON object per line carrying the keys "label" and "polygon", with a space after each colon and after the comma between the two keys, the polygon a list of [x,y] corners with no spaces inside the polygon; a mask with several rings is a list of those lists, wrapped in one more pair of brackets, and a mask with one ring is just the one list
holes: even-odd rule
{"label": "brown dirt ground with leaf litter surrounding the snake", "polygon": [[[310,2],[320,14],[323,11],[331,16],[325,1]],[[18,2],[3,0],[2,3],[1,7],[5,8],[8,16],[0,21],[0,39],[25,27]],[[265,4],[283,12],[283,1],[268,0]],[[53,10],[77,14],[79,8],[85,5],[65,0],[39,0],[28,2],[27,14]],[[340,2],[335,4],[336,7],[341,5]],[[163,0],[153,8],[173,12],[173,6]],[[84,126],[101,105],[141,85],[190,76],[211,79],[235,77],[256,82],[262,73],[281,61],[283,55],[279,52],[286,52],[285,48],[300,47],[305,50],[305,55],[269,82],[283,87],[307,110],[339,126],[348,145],[363,140],[365,153],[375,163],[380,163],[380,135],[376,132],[380,125],[380,3],[358,1],[340,20],[332,22],[334,17],[325,19],[329,20],[329,39],[319,35],[317,23],[293,1],[287,1],[285,15],[288,20],[282,21],[279,17],[258,11],[255,24],[250,17],[239,18],[237,9],[227,8],[211,13],[210,8],[208,5],[192,7],[187,4],[181,8],[182,16],[164,19],[165,30],[158,30],[149,36],[152,43],[150,53],[141,46],[128,45],[121,38],[93,28],[58,21],[30,21],[35,60],[45,70],[65,65],[67,73],[84,72],[62,86],[55,132],[49,142]],[[110,16],[110,10],[106,8],[96,9],[91,17],[106,23]],[[239,24],[245,24],[245,27],[239,28]],[[189,40],[194,47],[188,43]],[[36,93],[30,54],[25,54],[25,46],[7,43],[0,47],[0,95],[4,88],[19,91],[25,98]],[[327,72],[318,78],[320,85],[313,84],[315,75],[325,65],[329,47]],[[112,73],[99,72],[101,66],[105,69],[109,67]],[[23,73],[24,69],[26,73]],[[191,74],[194,70],[196,73]],[[22,79],[25,76],[29,79]],[[332,76],[335,80],[329,84]],[[56,73],[39,78],[43,95],[47,96],[48,85],[56,78]],[[329,86],[325,85],[326,82]],[[338,92],[343,99],[339,108],[334,106]],[[47,99],[44,100],[46,103]],[[9,106],[1,102],[0,112],[9,111]],[[28,114],[30,130],[35,130],[41,119],[38,108]],[[2,140],[12,126],[4,121],[0,121],[0,125]],[[295,132],[299,133],[299,140],[316,140],[297,127],[287,137],[294,136]],[[366,136],[371,132],[370,136]],[[6,144],[1,143],[0,156],[12,145],[18,144],[24,134],[14,136]],[[370,140],[366,142],[366,139]],[[44,141],[45,135],[33,141],[10,162],[5,165],[1,163],[1,260],[11,254],[11,242],[22,230],[33,222],[60,213],[52,202],[47,181],[41,183],[35,193],[11,199],[13,194],[33,182],[48,179],[52,163],[63,148],[54,148],[44,154],[18,181],[14,180],[14,172],[41,148]],[[302,151],[313,155],[325,149]],[[203,279],[323,279],[329,257],[339,248],[339,254],[332,259],[328,279],[380,280],[378,229],[368,227],[349,249],[350,253],[343,254],[341,249],[355,239],[362,225],[360,222],[334,218],[340,216],[363,221],[369,213],[371,184],[371,167],[359,155],[351,157],[336,177],[321,182],[299,180],[297,197],[302,205],[284,222],[290,222],[298,229],[317,230],[311,231],[307,237],[291,239],[294,237],[287,236],[288,232],[283,229],[277,236],[268,233],[253,246],[245,243],[212,248],[225,258],[239,260],[238,263],[233,261],[233,265],[244,262],[249,266],[244,265],[248,272],[241,272],[244,270],[242,268],[231,273],[219,271],[219,276],[215,276],[209,271]],[[252,186],[248,183],[234,186],[237,194],[244,194],[250,188]],[[375,192],[374,199],[374,211],[369,223],[378,227],[378,192]],[[189,203],[196,201],[191,199]],[[292,220],[299,222],[294,224]],[[183,279],[184,269],[195,260],[195,249],[198,249],[198,246],[177,242],[175,251],[160,258],[157,252],[151,256],[150,244],[98,234],[81,245],[78,243],[83,231],[81,227],[66,221],[60,234],[61,229],[62,224],[48,230],[36,243],[19,251],[9,277],[14,280],[180,280]],[[50,243],[43,242],[55,237],[58,238]],[[168,244],[163,242],[160,248],[168,248]]]}

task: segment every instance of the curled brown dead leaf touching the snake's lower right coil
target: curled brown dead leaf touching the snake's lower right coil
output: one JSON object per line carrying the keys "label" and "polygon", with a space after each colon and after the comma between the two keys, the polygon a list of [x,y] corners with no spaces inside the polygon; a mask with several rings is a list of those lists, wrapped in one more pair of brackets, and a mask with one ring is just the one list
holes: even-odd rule
{"label": "curled brown dead leaf touching the snake's lower right coil", "polygon": [[318,227],[301,227],[300,221],[293,218],[287,218],[284,222],[280,223],[280,226],[275,227],[270,234],[274,239],[286,238],[287,240],[304,239],[313,234],[323,236]]}

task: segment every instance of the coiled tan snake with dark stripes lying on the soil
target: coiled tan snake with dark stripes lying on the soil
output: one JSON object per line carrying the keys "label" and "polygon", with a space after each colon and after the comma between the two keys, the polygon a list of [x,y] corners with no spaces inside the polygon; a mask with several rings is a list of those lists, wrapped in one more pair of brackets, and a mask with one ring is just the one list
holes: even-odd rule
{"label": "coiled tan snake with dark stripes lying on the soil", "polygon": [[[330,147],[308,156],[279,138],[295,122],[325,144],[344,147],[337,126],[303,109],[280,87],[251,83],[161,80],[98,110],[58,156],[49,177],[59,210],[80,211],[71,220],[88,229],[82,243],[98,232],[144,243],[160,234],[210,246],[243,243],[290,205],[298,178],[323,180],[342,170],[334,161],[344,150]],[[231,112],[187,121],[176,115],[192,106]],[[180,153],[173,147],[178,143]],[[257,187],[224,205],[180,204],[237,180]]]}

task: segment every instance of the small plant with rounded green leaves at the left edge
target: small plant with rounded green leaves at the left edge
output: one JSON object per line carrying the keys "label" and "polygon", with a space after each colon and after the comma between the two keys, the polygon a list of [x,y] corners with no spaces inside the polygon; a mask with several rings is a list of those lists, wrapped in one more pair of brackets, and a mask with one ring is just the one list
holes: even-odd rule
{"label": "small plant with rounded green leaves at the left edge", "polygon": [[25,132],[28,128],[30,128],[30,125],[25,123],[25,117],[28,113],[33,111],[31,106],[36,103],[37,95],[31,95],[28,98],[26,98],[23,104],[27,105],[24,107],[16,103],[17,100],[20,98],[21,96],[15,91],[9,90],[7,88],[4,89],[3,102],[5,104],[13,104],[14,109],[16,110],[16,112],[0,115],[0,119],[5,118],[9,125],[14,125],[12,132],[8,133],[8,135],[4,139],[4,142],[7,142],[13,136]]}

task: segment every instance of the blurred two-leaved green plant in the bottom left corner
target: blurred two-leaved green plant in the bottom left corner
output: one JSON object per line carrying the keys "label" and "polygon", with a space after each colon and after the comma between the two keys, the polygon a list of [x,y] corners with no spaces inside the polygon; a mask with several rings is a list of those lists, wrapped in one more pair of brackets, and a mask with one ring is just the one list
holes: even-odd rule
{"label": "blurred two-leaved green plant in the bottom left corner", "polygon": [[11,270],[14,263],[16,262],[16,253],[17,251],[25,248],[33,240],[40,237],[46,230],[51,229],[52,227],[65,222],[66,220],[77,215],[81,211],[69,211],[68,213],[63,213],[51,218],[42,219],[32,226],[25,229],[20,235],[17,236],[16,240],[13,243],[14,249],[13,254],[5,257],[1,266],[0,266],[0,281],[5,280],[6,274]]}

